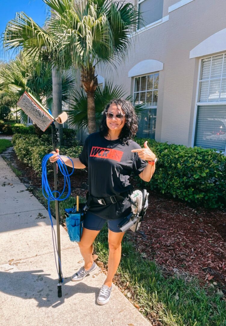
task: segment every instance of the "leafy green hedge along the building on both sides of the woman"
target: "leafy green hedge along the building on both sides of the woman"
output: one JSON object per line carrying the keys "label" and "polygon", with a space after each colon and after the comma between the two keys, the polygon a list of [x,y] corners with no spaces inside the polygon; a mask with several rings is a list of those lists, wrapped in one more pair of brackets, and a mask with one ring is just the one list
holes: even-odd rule
{"label": "leafy green hedge along the building on both sides of the woman", "polygon": [[[138,187],[148,187],[193,206],[226,207],[226,156],[212,149],[187,148],[183,145],[134,139],[143,148],[144,142],[158,157],[156,170],[150,182],[136,177]],[[49,135],[15,134],[12,140],[18,158],[41,175],[43,156],[52,151]],[[82,151],[78,141],[67,148],[59,146],[60,154],[78,157]],[[49,163],[48,171],[52,168]]]}

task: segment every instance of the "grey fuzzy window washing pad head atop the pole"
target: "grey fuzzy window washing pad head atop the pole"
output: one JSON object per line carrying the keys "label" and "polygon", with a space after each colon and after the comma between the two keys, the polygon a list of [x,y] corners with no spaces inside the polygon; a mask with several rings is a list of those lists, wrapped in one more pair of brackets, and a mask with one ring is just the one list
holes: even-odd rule
{"label": "grey fuzzy window washing pad head atop the pole", "polygon": [[33,122],[45,131],[52,122],[64,123],[68,116],[62,112],[56,119],[44,108],[44,106],[29,92],[24,92],[17,105],[33,120]]}

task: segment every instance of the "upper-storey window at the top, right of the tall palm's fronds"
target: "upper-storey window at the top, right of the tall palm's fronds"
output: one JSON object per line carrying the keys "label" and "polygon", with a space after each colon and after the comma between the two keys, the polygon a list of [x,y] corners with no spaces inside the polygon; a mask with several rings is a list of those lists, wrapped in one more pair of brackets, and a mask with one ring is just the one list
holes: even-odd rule
{"label": "upper-storey window at the top, right of the tall palm's fronds", "polygon": [[138,10],[143,19],[143,22],[138,25],[140,29],[143,25],[147,26],[163,18],[163,0],[140,0]]}

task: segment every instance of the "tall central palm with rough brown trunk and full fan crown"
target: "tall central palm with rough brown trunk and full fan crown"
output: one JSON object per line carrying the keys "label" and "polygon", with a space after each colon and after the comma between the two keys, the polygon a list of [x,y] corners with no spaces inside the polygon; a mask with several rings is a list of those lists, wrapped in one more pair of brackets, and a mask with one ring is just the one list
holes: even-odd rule
{"label": "tall central palm with rough brown trunk and full fan crown", "polygon": [[89,133],[96,131],[95,91],[98,81],[95,68],[116,68],[114,61],[125,60],[132,43],[131,34],[141,22],[131,3],[112,0],[43,0],[54,17],[48,21],[59,36],[59,59],[62,68],[79,69],[87,96]]}

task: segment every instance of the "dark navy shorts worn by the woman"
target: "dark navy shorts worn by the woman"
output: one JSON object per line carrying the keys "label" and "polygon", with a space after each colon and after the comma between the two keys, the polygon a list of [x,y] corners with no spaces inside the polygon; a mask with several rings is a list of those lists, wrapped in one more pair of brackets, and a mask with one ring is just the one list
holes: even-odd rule
{"label": "dark navy shorts worn by the woman", "polygon": [[[108,229],[113,231],[113,232],[121,232],[118,224],[124,220],[125,217],[120,217],[116,220],[110,221],[108,220]],[[89,230],[96,230],[100,231],[102,227],[104,226],[104,223],[107,220],[105,218],[99,217],[97,215],[94,215],[93,213],[87,211],[86,212],[86,217],[83,222],[83,227]]]}

